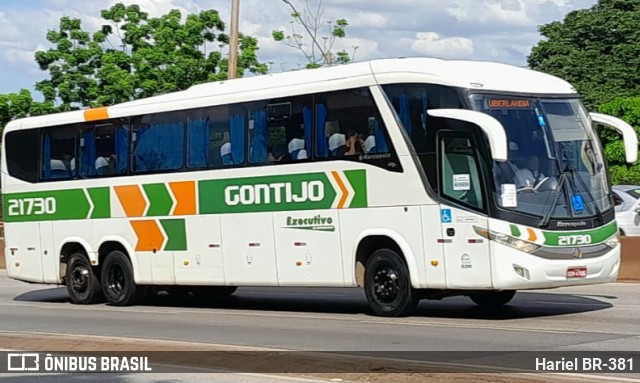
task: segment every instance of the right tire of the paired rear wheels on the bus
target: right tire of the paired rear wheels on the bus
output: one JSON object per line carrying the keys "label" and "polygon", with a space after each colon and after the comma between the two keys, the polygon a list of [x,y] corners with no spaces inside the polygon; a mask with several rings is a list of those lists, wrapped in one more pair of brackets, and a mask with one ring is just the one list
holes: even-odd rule
{"label": "right tire of the paired rear wheels on the bus", "polygon": [[104,260],[102,292],[107,302],[113,306],[135,305],[146,294],[145,286],[137,286],[133,280],[133,267],[129,257],[119,250],[110,252]]}

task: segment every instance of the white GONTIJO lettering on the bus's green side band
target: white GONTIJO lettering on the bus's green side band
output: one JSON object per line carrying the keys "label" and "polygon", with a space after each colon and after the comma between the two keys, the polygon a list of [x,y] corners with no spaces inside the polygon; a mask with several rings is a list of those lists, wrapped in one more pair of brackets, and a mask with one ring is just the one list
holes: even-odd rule
{"label": "white GONTIJO lettering on the bus's green side band", "polygon": [[232,185],[224,189],[224,202],[227,206],[260,205],[281,203],[321,202],[324,199],[324,183],[321,181],[302,181],[299,194],[294,192],[291,182],[261,185]]}

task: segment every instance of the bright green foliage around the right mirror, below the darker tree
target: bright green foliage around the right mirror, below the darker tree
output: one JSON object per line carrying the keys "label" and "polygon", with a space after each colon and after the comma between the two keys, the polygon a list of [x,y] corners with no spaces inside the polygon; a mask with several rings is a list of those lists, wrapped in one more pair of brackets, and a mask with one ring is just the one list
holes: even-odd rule
{"label": "bright green foliage around the right mirror, below the darker tree", "polygon": [[[640,133],[640,96],[620,97],[600,106],[601,113],[622,118]],[[607,128],[598,132],[609,162],[609,172],[613,184],[640,185],[640,163],[629,165],[625,161],[624,142],[620,135]]]}

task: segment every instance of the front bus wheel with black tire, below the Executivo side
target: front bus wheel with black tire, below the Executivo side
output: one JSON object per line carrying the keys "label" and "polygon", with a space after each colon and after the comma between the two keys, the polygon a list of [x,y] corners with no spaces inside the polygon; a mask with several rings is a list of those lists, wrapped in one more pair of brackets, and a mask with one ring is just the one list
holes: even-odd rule
{"label": "front bus wheel with black tire, below the Executivo side", "polygon": [[377,250],[367,261],[364,291],[369,307],[379,316],[410,315],[418,305],[409,269],[402,257],[390,249]]}

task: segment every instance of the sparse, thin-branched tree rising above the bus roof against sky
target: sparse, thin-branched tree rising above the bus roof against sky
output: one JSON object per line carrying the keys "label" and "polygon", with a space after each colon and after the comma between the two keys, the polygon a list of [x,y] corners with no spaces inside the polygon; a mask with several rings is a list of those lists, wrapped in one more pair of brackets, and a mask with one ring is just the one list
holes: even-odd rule
{"label": "sparse, thin-branched tree rising above the bus roof against sky", "polygon": [[[299,12],[291,1],[282,0],[282,2],[287,4],[292,10],[292,20],[290,21],[291,33],[285,34],[282,30],[274,30],[271,32],[273,39],[302,52],[308,61],[306,65],[307,68],[318,68],[321,66],[347,64],[351,62],[352,56],[355,56],[358,47],[354,47],[352,56],[344,49],[337,52],[333,51],[336,40],[343,39],[347,35],[346,28],[349,25],[347,20],[324,20],[322,1],[318,1],[318,6],[315,9],[311,6],[309,0],[305,1],[305,10]],[[304,30],[304,34],[298,32],[298,28],[300,27]],[[305,35],[310,40],[309,46],[305,44]]]}

